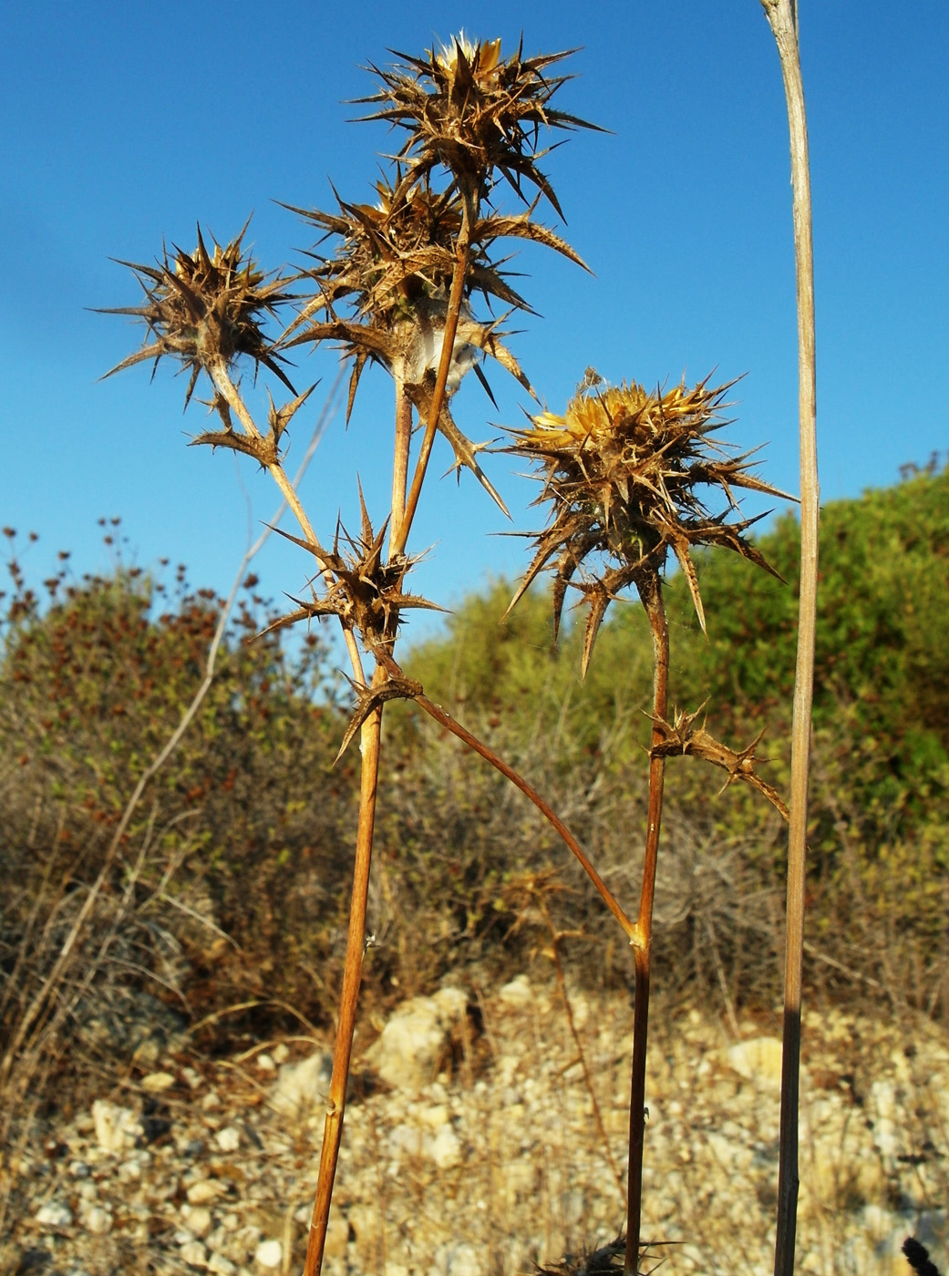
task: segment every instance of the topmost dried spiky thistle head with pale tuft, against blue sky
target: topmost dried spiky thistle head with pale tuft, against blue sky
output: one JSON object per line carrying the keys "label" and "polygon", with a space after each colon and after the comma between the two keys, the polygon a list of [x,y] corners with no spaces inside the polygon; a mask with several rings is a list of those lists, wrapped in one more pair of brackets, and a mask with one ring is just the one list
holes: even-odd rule
{"label": "topmost dried spiky thistle head with pale tuft, against blue sky", "polygon": [[497,171],[519,195],[522,180],[529,181],[563,217],[537,161],[546,154],[538,149],[541,128],[596,128],[550,107],[569,77],[548,77],[547,68],[571,52],[524,57],[518,46],[501,59],[500,40],[473,41],[462,33],[422,57],[397,54],[404,65],[390,71],[372,68],[383,87],[361,98],[379,107],[365,119],[388,120],[407,130],[398,153],[408,166],[407,184],[443,165],[466,198],[478,198]]}

